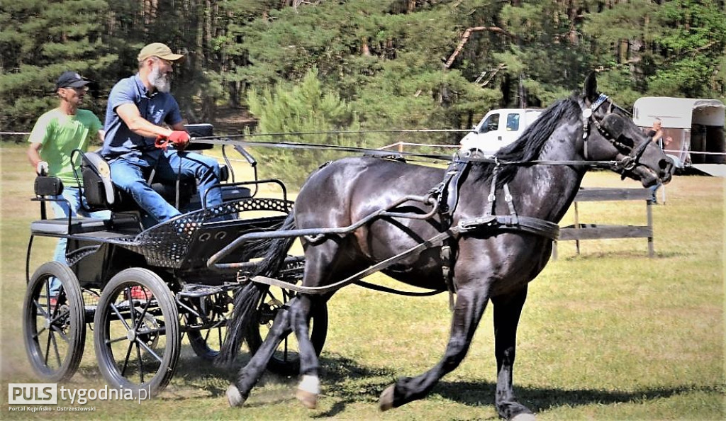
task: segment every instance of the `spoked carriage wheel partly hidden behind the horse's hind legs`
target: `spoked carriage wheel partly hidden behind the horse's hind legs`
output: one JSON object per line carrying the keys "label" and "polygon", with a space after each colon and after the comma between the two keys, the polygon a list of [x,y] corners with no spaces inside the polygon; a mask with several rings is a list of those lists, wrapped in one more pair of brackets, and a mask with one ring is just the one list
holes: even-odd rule
{"label": "spoked carriage wheel partly hidden behind the horse's hind legs", "polygon": [[[250,323],[250,330],[247,335],[250,353],[257,352],[272,327],[277,312],[280,311],[282,306],[287,305],[287,301],[290,301],[294,296],[294,292],[278,287],[270,287],[267,293],[263,295],[257,306],[256,320],[254,323]],[[313,309],[309,332],[315,353],[320,355],[327,338],[327,303]],[[280,346],[277,347],[267,363],[267,369],[279,375],[295,375],[300,372],[300,353],[294,332],[282,340],[282,343],[280,343]]]}

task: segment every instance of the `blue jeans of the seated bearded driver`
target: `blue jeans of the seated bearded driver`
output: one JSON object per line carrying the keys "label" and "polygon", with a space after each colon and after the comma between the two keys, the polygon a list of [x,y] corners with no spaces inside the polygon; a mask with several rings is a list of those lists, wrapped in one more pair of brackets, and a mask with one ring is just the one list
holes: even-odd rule
{"label": "blue jeans of the seated bearded driver", "polygon": [[[110,163],[113,183],[128,192],[152,218],[152,224],[158,224],[181,214],[161,195],[152,189],[144,179],[153,168],[156,169],[155,179],[173,184],[177,177],[196,179],[200,197],[206,197],[206,205],[214,207],[222,203],[219,187],[219,163],[216,159],[194,152],[176,152],[168,150],[156,161],[147,156],[127,160],[120,157]],[[147,226],[147,225],[145,225]]]}

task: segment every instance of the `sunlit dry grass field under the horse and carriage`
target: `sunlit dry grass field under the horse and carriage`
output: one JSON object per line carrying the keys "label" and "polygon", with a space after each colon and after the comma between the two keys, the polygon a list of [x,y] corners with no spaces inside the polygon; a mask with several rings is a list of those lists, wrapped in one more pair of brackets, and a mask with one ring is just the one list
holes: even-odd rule
{"label": "sunlit dry grass field under the horse and carriage", "polygon": [[[8,383],[37,383],[25,356],[20,317],[33,177],[23,145],[1,145],[0,419],[46,419],[9,412]],[[264,174],[262,174],[264,176]],[[638,187],[610,172],[587,187]],[[560,242],[559,258],[531,284],[518,335],[515,393],[539,420],[723,420],[724,181],[677,176],[666,205],[653,208],[656,257],[645,239]],[[514,192],[515,193],[515,192]],[[515,193],[516,194],[516,193]],[[584,203],[586,223],[645,224],[644,203]],[[571,213],[562,225],[572,224]],[[38,242],[52,256],[52,242]],[[33,262],[31,270],[41,261]],[[375,282],[388,282],[382,275]],[[393,285],[388,284],[388,285]],[[171,385],[154,401],[94,401],[73,420],[497,420],[492,314],[487,311],[462,365],[423,400],[378,412],[396,377],[438,361],[449,330],[448,299],[405,298],[348,287],[330,302],[322,352],[322,398],[307,410],[295,378],[266,375],[248,403],[231,409],[234,372],[200,361],[184,341]],[[81,369],[65,388],[102,388],[88,335]],[[64,406],[68,406],[65,405]]]}

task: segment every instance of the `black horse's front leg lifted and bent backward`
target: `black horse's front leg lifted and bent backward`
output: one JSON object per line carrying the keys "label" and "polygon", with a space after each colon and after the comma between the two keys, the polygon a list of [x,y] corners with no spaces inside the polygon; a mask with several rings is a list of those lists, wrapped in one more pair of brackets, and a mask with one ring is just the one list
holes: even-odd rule
{"label": "black horse's front leg lifted and bent backward", "polygon": [[489,301],[489,287],[476,282],[460,285],[454,306],[452,329],[444,358],[436,366],[417,377],[401,377],[381,393],[378,405],[381,411],[396,408],[410,401],[423,398],[439,383],[441,377],[459,366],[464,359],[476,327]]}

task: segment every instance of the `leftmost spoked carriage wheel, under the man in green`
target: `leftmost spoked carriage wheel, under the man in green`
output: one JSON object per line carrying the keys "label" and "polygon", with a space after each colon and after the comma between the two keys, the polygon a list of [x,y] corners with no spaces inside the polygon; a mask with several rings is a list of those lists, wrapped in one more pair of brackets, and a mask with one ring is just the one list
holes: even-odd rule
{"label": "leftmost spoked carriage wheel, under the man in green", "polygon": [[[60,290],[50,293],[52,279]],[[23,338],[33,370],[49,382],[70,379],[81,364],[86,343],[83,295],[68,266],[50,261],[28,283],[23,303]]]}

